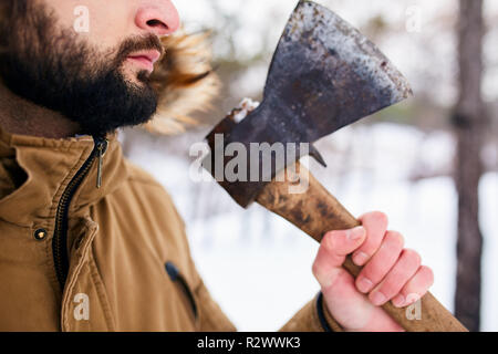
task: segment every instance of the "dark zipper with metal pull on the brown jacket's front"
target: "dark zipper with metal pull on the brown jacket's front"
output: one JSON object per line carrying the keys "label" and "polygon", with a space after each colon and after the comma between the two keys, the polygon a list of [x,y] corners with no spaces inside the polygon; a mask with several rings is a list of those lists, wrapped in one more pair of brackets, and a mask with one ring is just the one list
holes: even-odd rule
{"label": "dark zipper with metal pull on the brown jacket's front", "polygon": [[77,188],[81,186],[85,177],[89,175],[93,163],[97,159],[97,180],[96,188],[102,186],[102,168],[104,155],[107,150],[108,140],[102,137],[94,137],[95,147],[92,154],[70,181],[61,200],[59,201],[58,212],[55,215],[55,228],[52,239],[53,261],[55,264],[55,273],[58,275],[61,290],[64,290],[65,281],[69,273],[69,254],[68,254],[68,214],[71,200]]}

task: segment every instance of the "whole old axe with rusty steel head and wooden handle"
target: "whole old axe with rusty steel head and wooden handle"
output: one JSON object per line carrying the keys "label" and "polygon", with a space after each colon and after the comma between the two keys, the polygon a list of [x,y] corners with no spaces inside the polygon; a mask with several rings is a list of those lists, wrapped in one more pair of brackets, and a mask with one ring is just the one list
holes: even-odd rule
{"label": "whole old axe with rusty steel head and wooden handle", "polygon": [[[257,201],[321,242],[330,230],[361,223],[299,158],[310,155],[325,166],[314,142],[411,95],[406,80],[372,42],[329,9],[301,0],[273,55],[261,104],[241,122],[231,114],[214,128],[207,136],[211,152],[203,165],[241,207]],[[232,143],[245,147],[239,155],[247,152],[238,156],[245,157],[239,169],[257,169],[259,178],[220,178],[216,165],[224,171],[236,158],[225,156],[225,146]],[[271,168],[264,168],[264,153],[258,153],[256,163],[249,153],[255,143],[293,144],[295,153],[286,150],[283,163],[267,153],[262,157],[271,159]],[[290,192],[302,176],[308,190]],[[343,267],[353,277],[361,271],[351,257]],[[383,309],[406,331],[467,331],[430,293],[421,301],[422,319],[408,320],[406,310],[391,302]]]}

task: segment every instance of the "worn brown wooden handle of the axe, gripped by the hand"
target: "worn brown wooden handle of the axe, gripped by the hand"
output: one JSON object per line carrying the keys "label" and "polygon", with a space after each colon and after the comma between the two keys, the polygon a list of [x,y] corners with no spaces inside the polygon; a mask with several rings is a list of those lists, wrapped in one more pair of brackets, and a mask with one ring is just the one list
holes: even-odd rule
{"label": "worn brown wooden handle of the axe, gripped by the hand", "polygon": [[[282,171],[276,181],[268,184],[257,201],[270,211],[289,220],[318,242],[332,230],[346,230],[361,225],[304,167],[299,163]],[[283,177],[287,177],[283,179]],[[308,190],[290,194],[289,188],[298,188],[309,183]],[[343,266],[353,277],[357,277],[357,267],[347,257]],[[408,320],[406,309],[395,308],[391,302],[383,309],[408,332],[467,332],[467,329],[455,319],[430,293],[422,299],[422,319]]]}

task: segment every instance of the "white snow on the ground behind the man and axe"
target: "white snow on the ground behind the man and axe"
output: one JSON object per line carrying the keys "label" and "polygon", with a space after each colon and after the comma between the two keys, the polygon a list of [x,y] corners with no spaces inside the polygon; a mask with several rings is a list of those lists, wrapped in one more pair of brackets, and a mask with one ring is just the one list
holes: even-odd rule
{"label": "white snow on the ground behind the man and axe", "polygon": [[[347,168],[342,171],[340,156],[352,140]],[[427,169],[450,163],[452,137],[378,124],[343,129],[334,135],[333,145],[340,154],[325,156],[331,162],[326,170],[311,163],[318,178],[354,215],[386,212],[391,228],[401,231],[407,247],[419,251],[424,263],[434,269],[432,292],[453,309],[457,210],[453,180],[408,181],[415,163]],[[214,181],[194,184],[189,163],[178,157],[145,144],[133,148],[132,159],[172,194],[186,220],[199,273],[239,330],[276,331],[319,291],[311,274],[318,244],[301,231],[259,206],[242,210]],[[498,331],[498,174],[484,176],[480,197],[483,330]],[[209,216],[211,210],[221,211]]]}

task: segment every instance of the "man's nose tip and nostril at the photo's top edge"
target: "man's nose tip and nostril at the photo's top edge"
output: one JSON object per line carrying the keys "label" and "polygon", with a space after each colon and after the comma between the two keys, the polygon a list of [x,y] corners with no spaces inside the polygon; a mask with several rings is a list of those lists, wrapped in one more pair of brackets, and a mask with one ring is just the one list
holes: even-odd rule
{"label": "man's nose tip and nostril at the photo's top edge", "polygon": [[156,35],[167,35],[178,30],[178,11],[170,0],[144,1],[138,8],[135,23],[138,28]]}

